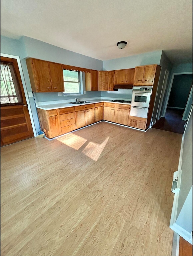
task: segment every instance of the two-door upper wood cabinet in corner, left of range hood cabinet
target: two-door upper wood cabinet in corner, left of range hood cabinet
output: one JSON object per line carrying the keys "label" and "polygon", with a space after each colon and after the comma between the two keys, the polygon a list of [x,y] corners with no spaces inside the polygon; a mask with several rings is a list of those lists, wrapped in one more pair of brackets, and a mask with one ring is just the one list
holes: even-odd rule
{"label": "two-door upper wood cabinet in corner, left of range hood cabinet", "polygon": [[113,91],[114,90],[114,71],[99,71],[98,90]]}

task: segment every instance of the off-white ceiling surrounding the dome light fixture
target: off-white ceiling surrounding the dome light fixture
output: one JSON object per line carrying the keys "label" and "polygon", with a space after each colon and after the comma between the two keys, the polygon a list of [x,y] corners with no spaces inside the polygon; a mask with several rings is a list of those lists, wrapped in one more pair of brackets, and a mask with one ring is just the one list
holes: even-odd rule
{"label": "off-white ceiling surrounding the dome light fixture", "polygon": [[[192,0],[1,0],[1,35],[27,36],[96,59],[164,50],[192,61]],[[118,41],[128,41],[118,49]]]}

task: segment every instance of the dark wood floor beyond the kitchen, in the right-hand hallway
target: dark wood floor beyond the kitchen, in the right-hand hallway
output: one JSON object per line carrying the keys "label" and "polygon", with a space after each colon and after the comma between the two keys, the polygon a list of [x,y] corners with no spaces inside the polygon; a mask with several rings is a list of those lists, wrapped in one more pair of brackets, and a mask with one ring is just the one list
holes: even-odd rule
{"label": "dark wood floor beyond the kitchen, in the right-hand hallway", "polygon": [[167,108],[165,117],[157,120],[153,128],[173,133],[184,133],[185,121],[182,120],[183,109]]}

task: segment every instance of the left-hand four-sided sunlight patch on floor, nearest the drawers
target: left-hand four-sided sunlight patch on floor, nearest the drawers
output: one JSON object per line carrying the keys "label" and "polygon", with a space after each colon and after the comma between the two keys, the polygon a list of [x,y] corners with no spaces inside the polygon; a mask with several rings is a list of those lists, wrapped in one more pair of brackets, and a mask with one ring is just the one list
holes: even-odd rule
{"label": "left-hand four-sided sunlight patch on floor, nearest the drawers", "polygon": [[57,140],[76,150],[80,149],[81,146],[87,141],[87,139],[84,139],[73,133],[62,136]]}

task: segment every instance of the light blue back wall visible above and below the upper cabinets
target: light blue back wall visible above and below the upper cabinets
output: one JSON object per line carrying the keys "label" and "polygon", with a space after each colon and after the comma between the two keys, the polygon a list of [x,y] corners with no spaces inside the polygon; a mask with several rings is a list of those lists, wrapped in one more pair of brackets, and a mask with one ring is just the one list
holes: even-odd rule
{"label": "light blue back wall visible above and below the upper cabinets", "polygon": [[[162,50],[142,53],[134,56],[110,59],[103,61],[103,70],[132,69],[136,66],[158,64],[160,65]],[[113,97],[122,99],[132,98],[132,89],[118,89],[118,91],[102,91],[102,97]]]}

